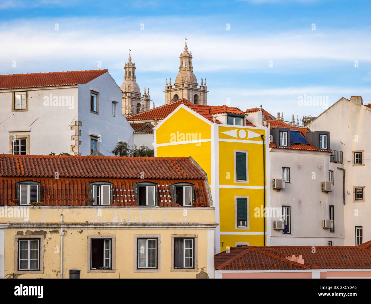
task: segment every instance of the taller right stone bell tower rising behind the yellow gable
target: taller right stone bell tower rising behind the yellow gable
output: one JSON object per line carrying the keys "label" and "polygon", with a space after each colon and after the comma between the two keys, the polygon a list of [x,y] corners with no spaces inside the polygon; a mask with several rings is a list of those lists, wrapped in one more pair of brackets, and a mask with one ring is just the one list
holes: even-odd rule
{"label": "taller right stone bell tower rising behind the yellow gable", "polygon": [[192,52],[188,52],[187,37],[185,37],[184,52],[180,53],[179,73],[175,78],[174,85],[170,82],[168,84],[166,78],[165,85],[165,104],[172,101],[185,98],[194,104],[207,104],[207,86],[205,81],[201,78],[201,85],[197,84],[196,75],[193,74]]}

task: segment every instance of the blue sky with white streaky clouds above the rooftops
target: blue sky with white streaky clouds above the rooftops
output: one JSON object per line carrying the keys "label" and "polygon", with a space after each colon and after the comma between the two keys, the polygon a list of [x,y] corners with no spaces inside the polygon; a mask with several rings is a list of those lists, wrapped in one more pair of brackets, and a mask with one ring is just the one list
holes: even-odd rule
{"label": "blue sky with white streaky clouds above the rooftops", "polygon": [[160,106],[187,36],[208,104],[262,104],[285,120],[317,116],[326,104],[300,106],[299,98],[324,96],[330,106],[361,95],[371,103],[370,16],[369,1],[2,0],[0,74],[101,62],[120,85],[130,48],[142,93],[149,87]]}

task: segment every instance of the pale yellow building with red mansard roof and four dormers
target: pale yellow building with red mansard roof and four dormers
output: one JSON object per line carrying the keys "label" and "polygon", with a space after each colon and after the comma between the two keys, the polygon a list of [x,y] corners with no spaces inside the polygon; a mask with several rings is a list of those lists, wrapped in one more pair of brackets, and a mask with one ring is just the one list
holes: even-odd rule
{"label": "pale yellow building with red mansard roof and four dormers", "polygon": [[0,155],[0,278],[213,278],[216,226],[192,158]]}

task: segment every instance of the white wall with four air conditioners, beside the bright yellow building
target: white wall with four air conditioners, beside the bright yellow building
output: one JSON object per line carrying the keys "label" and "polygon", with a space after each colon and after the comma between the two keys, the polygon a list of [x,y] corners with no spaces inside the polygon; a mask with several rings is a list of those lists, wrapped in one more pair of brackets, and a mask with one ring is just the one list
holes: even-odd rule
{"label": "white wall with four air conditioners, beside the bright yellow building", "polygon": [[[331,138],[331,133],[330,133]],[[291,206],[291,234],[273,229],[271,221],[271,246],[343,245],[344,210],[342,201],[342,171],[339,164],[330,162],[330,153],[289,151],[270,148],[270,206]],[[299,167],[300,164],[300,167]],[[321,168],[319,168],[321,166]],[[290,183],[285,189],[272,190],[272,179],[282,178],[282,167],[291,171]],[[334,191],[321,191],[321,182],[328,181],[328,171],[334,171]],[[314,177],[314,178],[313,178]],[[300,200],[300,202],[299,202]],[[322,228],[322,221],[329,219],[329,206],[334,206],[335,233]]]}

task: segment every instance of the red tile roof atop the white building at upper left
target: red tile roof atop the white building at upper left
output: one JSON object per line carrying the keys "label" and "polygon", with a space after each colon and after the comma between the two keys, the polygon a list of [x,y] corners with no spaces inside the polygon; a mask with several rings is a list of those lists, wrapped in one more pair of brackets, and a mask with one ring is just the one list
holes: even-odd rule
{"label": "red tile roof atop the white building at upper left", "polygon": [[98,69],[91,71],[0,75],[0,90],[83,84],[107,71],[106,69]]}

